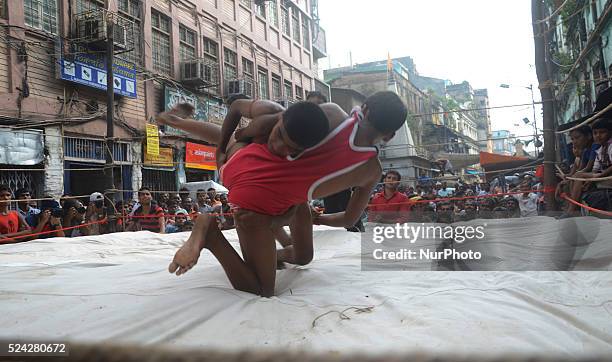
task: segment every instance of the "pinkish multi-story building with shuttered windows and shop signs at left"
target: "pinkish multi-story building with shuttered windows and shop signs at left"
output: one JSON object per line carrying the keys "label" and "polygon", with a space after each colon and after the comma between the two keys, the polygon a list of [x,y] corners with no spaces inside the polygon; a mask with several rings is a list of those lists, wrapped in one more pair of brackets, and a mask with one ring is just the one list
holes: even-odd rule
{"label": "pinkish multi-story building with shuttered windows and shop signs at left", "polygon": [[282,104],[314,89],[329,95],[316,79],[326,56],[317,3],[0,0],[0,148],[14,150],[0,158],[0,182],[55,196],[105,188],[109,23],[115,187],[176,190],[213,178],[212,147],[162,128],[152,156],[145,125],[179,101],[220,123],[234,93]]}

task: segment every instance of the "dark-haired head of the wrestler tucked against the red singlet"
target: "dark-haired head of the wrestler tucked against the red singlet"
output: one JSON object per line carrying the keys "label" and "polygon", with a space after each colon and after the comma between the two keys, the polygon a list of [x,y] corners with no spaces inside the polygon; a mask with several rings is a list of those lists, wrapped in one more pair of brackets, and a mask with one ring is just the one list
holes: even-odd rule
{"label": "dark-haired head of the wrestler tucked against the red singlet", "polygon": [[268,149],[281,157],[297,155],[328,133],[329,121],[323,110],[316,104],[299,102],[279,116],[268,138]]}

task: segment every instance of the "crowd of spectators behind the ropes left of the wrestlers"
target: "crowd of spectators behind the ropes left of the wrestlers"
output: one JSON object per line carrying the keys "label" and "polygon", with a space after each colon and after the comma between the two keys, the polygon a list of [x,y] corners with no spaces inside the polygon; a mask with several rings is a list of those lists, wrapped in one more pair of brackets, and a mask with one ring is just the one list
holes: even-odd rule
{"label": "crowd of spectators behind the ropes left of the wrestlers", "polygon": [[14,196],[15,200],[7,185],[0,185],[0,244],[112,231],[190,231],[195,218],[204,213],[214,214],[222,230],[234,227],[227,195],[214,188],[198,190],[197,201],[193,201],[189,191],[157,193],[155,199],[151,190],[142,187],[137,201],[122,200],[113,205],[113,218],[109,218],[105,197],[100,192],[92,193],[86,200],[70,195],[62,195],[59,201],[52,196],[33,200],[27,189],[15,191]]}

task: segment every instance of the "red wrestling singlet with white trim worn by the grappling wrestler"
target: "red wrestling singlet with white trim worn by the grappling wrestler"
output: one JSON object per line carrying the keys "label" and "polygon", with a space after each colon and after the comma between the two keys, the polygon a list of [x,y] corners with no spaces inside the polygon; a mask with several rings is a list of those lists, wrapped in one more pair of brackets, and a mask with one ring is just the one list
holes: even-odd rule
{"label": "red wrestling singlet with white trim worn by the grappling wrestler", "polygon": [[318,145],[297,158],[279,157],[267,144],[250,144],[221,168],[229,203],[266,215],[284,214],[291,206],[312,199],[323,182],[354,170],[376,157],[376,147],[358,147],[354,140],[360,112],[353,112]]}

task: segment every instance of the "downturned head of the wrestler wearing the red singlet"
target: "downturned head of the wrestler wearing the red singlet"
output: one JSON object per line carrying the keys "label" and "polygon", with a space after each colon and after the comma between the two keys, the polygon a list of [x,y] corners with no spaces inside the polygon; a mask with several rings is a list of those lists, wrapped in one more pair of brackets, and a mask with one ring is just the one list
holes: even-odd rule
{"label": "downturned head of the wrestler wearing the red singlet", "polygon": [[377,92],[368,97],[361,111],[364,115],[363,125],[373,128],[377,134],[375,143],[390,141],[395,131],[406,122],[408,115],[404,102],[397,94],[389,91]]}

